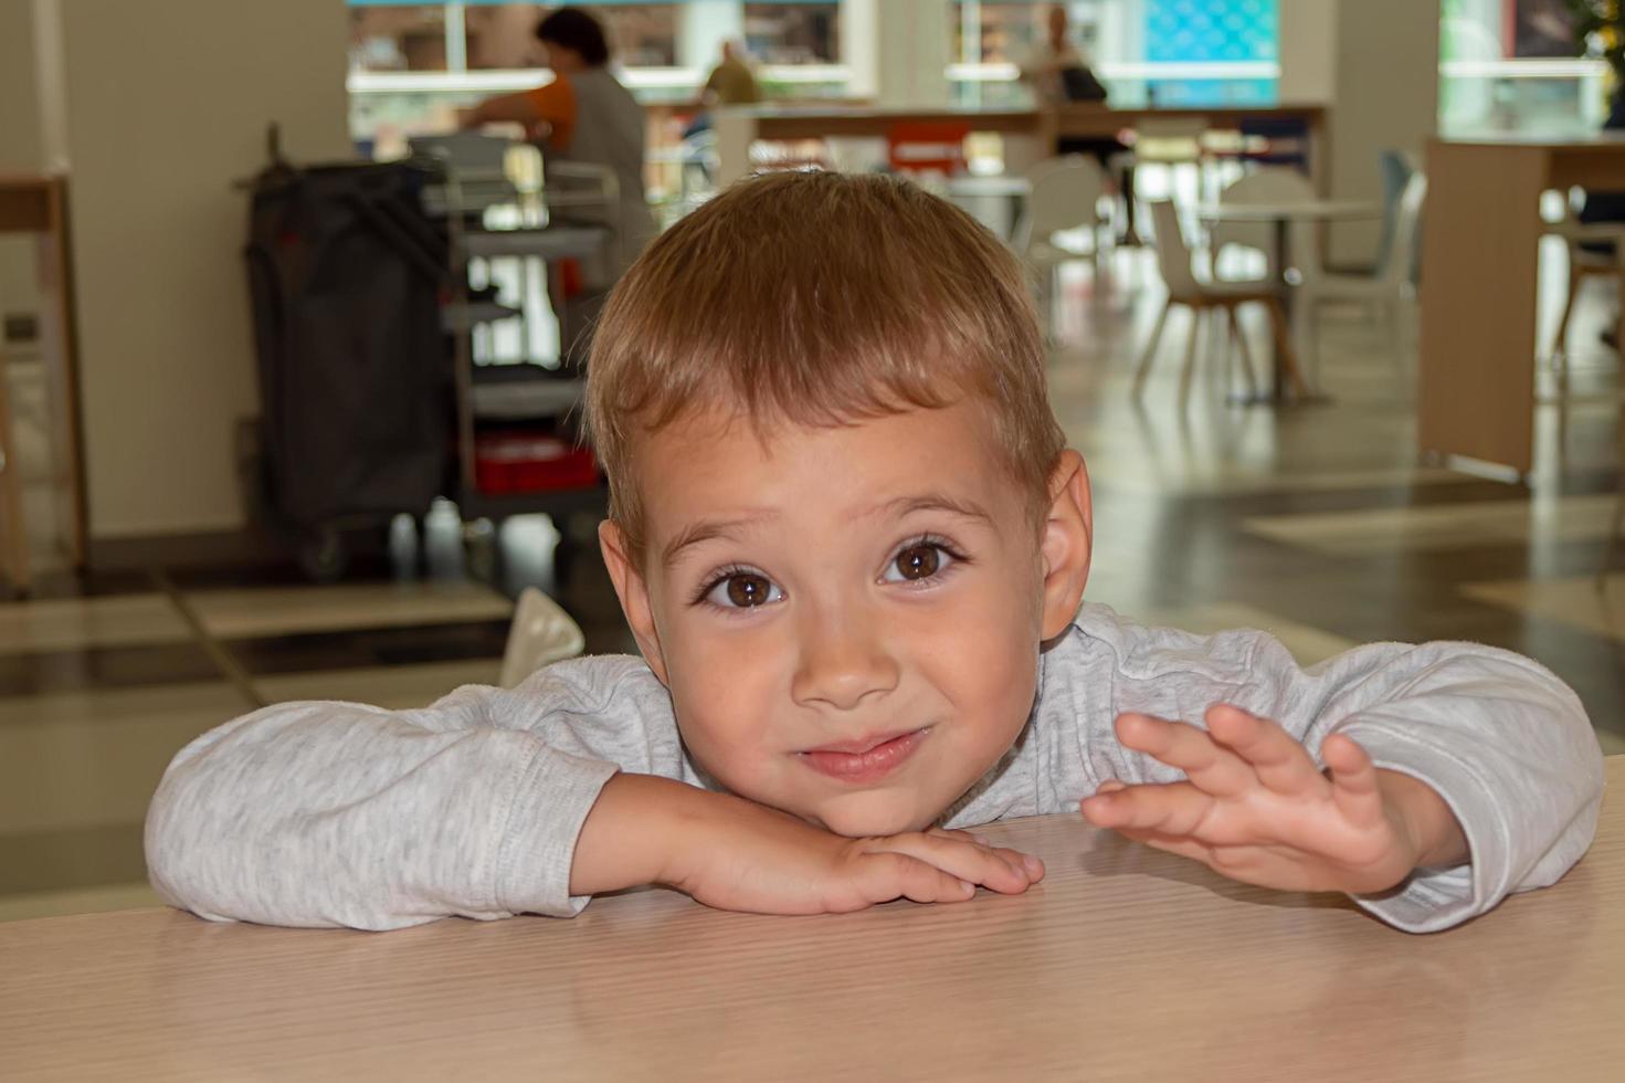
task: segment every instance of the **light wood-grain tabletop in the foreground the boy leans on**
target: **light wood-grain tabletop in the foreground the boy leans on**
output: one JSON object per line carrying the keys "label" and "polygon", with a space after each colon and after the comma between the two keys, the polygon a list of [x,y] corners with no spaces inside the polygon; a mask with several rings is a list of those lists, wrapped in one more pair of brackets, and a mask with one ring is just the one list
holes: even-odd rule
{"label": "light wood-grain tabletop in the foreground the boy leans on", "polygon": [[[1625,758],[1609,761],[1625,784]],[[1555,888],[1432,937],[1077,816],[1020,898],[754,917],[663,891],[393,933],[0,925],[6,1080],[1589,1080],[1625,1067],[1625,803]]]}

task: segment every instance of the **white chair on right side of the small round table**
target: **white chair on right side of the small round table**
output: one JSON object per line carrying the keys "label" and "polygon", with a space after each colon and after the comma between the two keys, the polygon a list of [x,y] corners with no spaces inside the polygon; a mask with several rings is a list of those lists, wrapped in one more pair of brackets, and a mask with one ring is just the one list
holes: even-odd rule
{"label": "white chair on right side of the small round table", "polygon": [[1308,337],[1313,382],[1320,381],[1320,309],[1324,304],[1347,302],[1370,307],[1388,328],[1394,364],[1404,366],[1412,340],[1410,325],[1415,319],[1415,281],[1412,281],[1410,272],[1415,267],[1417,233],[1425,202],[1427,176],[1414,172],[1406,180],[1404,194],[1399,197],[1388,262],[1378,267],[1375,275],[1328,273],[1318,257],[1315,224],[1298,223],[1294,226],[1294,252],[1303,252],[1310,257],[1294,259],[1294,263],[1303,275],[1297,294],[1298,325]]}

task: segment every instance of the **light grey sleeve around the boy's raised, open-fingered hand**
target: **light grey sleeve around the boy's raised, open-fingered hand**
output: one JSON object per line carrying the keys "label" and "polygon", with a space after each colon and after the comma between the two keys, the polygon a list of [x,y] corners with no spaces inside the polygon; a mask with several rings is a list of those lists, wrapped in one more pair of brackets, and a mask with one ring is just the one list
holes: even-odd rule
{"label": "light grey sleeve around the boy's raised, open-fingered hand", "polygon": [[1209,706],[1230,702],[1285,727],[1316,763],[1326,735],[1346,733],[1378,768],[1438,792],[1467,836],[1467,865],[1355,898],[1407,932],[1448,929],[1513,891],[1549,886],[1591,844],[1604,784],[1597,738],[1580,698],[1529,659],[1466,642],[1372,644],[1300,668],[1264,633],[1198,637],[1112,618],[1094,621],[1107,633],[1095,647],[1112,659],[1115,693],[1086,724],[1095,730],[1084,735],[1089,785],[1183,777],[1118,743],[1112,722],[1123,711],[1204,725]]}

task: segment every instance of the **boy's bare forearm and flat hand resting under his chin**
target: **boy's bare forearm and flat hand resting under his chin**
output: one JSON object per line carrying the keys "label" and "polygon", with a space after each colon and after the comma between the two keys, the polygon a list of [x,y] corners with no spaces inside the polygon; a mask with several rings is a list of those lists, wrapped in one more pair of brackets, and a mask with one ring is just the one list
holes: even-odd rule
{"label": "boy's bare forearm and flat hand resting under his chin", "polygon": [[[626,852],[626,841],[637,834],[653,847],[640,847],[645,855],[634,865],[658,867],[647,875],[626,867],[593,883],[590,872],[601,865],[596,852],[604,844]],[[964,831],[848,839],[741,797],[616,776],[577,841],[570,891],[663,883],[725,911],[843,914],[899,898],[962,902],[978,886],[1020,894],[1042,878],[1037,857],[983,846]]]}

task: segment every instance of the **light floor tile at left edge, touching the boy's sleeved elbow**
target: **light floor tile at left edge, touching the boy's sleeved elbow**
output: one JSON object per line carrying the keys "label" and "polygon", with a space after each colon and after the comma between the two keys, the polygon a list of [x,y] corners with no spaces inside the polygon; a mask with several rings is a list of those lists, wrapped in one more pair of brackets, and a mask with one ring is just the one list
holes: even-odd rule
{"label": "light floor tile at left edge, touching the boy's sleeved elbow", "polygon": [[224,683],[0,699],[0,836],[140,823],[174,755],[249,709]]}

